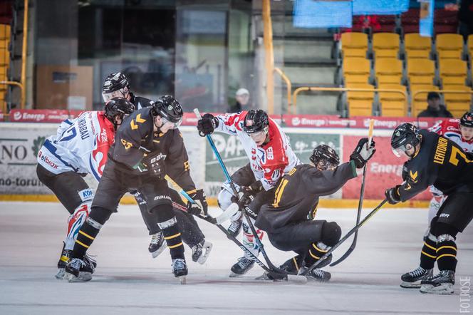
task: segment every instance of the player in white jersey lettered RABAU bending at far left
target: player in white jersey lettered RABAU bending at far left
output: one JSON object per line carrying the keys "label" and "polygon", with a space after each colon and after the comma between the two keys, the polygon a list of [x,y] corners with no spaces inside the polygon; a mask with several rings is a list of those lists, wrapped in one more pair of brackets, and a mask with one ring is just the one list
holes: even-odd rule
{"label": "player in white jersey lettered RABAU bending at far left", "polygon": [[[54,192],[71,214],[58,262],[58,279],[63,278],[77,233],[93,200],[93,191],[83,177],[90,174],[95,180],[100,180],[115,131],[123,118],[134,110],[135,105],[128,100],[112,98],[105,104],[104,112],[87,111],[73,120],[64,120],[56,135],[46,139],[38,152],[38,179]],[[90,257],[88,265],[95,267]]]}

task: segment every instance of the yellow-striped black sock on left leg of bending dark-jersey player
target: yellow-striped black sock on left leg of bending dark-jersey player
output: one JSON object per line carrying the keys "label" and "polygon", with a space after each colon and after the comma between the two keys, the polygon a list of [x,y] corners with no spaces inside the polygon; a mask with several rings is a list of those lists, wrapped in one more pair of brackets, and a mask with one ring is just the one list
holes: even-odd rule
{"label": "yellow-striped black sock on left leg of bending dark-jersey player", "polygon": [[72,258],[83,259],[85,252],[93,243],[100,228],[105,224],[112,212],[102,207],[93,207],[89,217],[85,220],[77,234],[76,244],[71,254]]}

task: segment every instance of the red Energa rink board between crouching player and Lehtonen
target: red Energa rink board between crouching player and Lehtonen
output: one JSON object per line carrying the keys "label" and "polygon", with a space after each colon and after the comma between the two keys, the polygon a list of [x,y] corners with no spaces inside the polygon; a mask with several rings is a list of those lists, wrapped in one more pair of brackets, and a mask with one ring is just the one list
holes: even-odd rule
{"label": "red Energa rink board between crouching player and Lehtonen", "polygon": [[[343,161],[350,160],[350,154],[361,137],[343,136]],[[402,165],[405,159],[397,158],[391,150],[390,137],[375,137],[376,153],[368,162],[365,180],[365,199],[384,199],[384,192],[390,187],[402,183]],[[358,170],[358,177],[349,180],[342,189],[343,199],[360,198],[363,170]],[[429,190],[420,193],[413,200],[430,200]]]}

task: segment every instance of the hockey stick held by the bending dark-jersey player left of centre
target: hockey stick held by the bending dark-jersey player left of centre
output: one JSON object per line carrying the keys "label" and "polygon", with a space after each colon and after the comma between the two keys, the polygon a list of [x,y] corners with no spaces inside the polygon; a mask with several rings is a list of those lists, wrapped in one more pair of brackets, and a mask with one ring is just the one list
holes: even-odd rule
{"label": "hockey stick held by the bending dark-jersey player left of centre", "polygon": [[[185,192],[179,185],[177,185],[176,182],[174,182],[170,178],[169,178],[169,180],[172,182],[173,185],[175,185],[180,190],[180,194],[182,196],[184,196],[184,198],[189,200],[189,202],[194,202],[194,200],[192,200],[192,198],[187,194],[187,192]],[[176,202],[172,202],[172,206],[176,207],[178,210],[182,210],[184,212],[187,212],[186,207],[184,207],[184,206],[182,206],[182,205],[180,205]],[[203,215],[197,215],[197,217],[199,217],[200,219],[202,219],[204,221],[209,222],[210,224],[214,224],[215,226],[217,226],[222,232],[224,232],[225,235],[227,235],[228,239],[230,239],[232,242],[237,244],[237,246],[240,247],[240,249],[242,249],[246,254],[248,254],[248,256],[251,257],[251,259],[253,259],[256,262],[256,264],[259,264],[259,266],[262,269],[264,269],[264,271],[268,272],[268,274],[271,277],[274,277],[274,279],[291,280],[291,281],[299,282],[299,283],[306,283],[307,282],[307,279],[305,277],[295,277],[295,276],[288,277],[287,273],[281,274],[280,272],[276,272],[276,271],[272,270],[270,267],[266,267],[266,265],[263,262],[261,262],[261,260],[259,260],[258,257],[254,256],[254,254],[252,252],[250,252],[250,250],[247,249],[244,246],[244,244],[241,244],[241,242],[239,242],[239,240],[236,237],[234,237],[232,234],[229,234],[229,232],[227,232],[227,229],[222,227],[222,224],[217,222],[217,220],[212,220],[214,218],[209,217],[209,216],[204,217]]]}

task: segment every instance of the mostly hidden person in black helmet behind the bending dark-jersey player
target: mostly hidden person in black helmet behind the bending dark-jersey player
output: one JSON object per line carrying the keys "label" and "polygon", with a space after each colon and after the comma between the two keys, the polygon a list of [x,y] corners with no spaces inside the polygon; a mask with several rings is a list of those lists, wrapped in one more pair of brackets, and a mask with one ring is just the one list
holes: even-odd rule
{"label": "mostly hidden person in black helmet behind the bending dark-jersey player", "polygon": [[[102,87],[102,97],[105,102],[117,95],[133,103],[137,110],[150,107],[154,103],[148,98],[142,98],[132,93],[130,91],[128,78],[121,72],[110,73],[110,75],[105,78]],[[135,196],[136,202],[140,207],[142,218],[151,235],[148,250],[152,257],[155,258],[166,248],[164,236],[160,227],[157,226],[157,217],[147,211],[146,200],[143,199],[140,192],[132,191],[131,194]],[[171,188],[170,197],[173,202],[185,207],[179,193]],[[182,232],[182,240],[192,249],[192,260],[199,262],[199,264],[204,264],[212,250],[212,243],[205,240],[204,233],[202,233],[202,230],[199,228],[194,216],[180,210],[174,210],[174,212],[177,218],[177,224],[179,224]]]}

